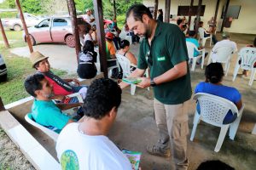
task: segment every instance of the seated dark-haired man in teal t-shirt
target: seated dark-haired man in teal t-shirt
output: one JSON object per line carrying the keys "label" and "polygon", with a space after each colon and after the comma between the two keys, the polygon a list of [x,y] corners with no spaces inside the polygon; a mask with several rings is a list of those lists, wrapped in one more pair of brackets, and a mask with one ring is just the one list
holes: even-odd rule
{"label": "seated dark-haired man in teal t-shirt", "polygon": [[32,118],[35,122],[55,130],[56,133],[60,133],[63,127],[73,122],[73,119],[62,114],[61,110],[78,107],[80,104],[55,105],[51,100],[54,96],[52,86],[43,74],[37,73],[27,77],[24,86],[26,92],[35,98],[32,105]]}

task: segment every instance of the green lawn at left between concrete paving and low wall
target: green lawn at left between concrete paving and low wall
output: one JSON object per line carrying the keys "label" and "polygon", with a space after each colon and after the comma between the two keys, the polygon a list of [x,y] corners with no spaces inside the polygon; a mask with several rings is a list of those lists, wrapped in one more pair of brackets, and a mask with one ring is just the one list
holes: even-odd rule
{"label": "green lawn at left between concrete paving and low wall", "polygon": [[[12,47],[21,46],[24,46],[24,44],[16,42],[12,45]],[[3,55],[3,59],[8,69],[8,80],[6,82],[0,82],[0,96],[3,100],[3,104],[7,105],[29,96],[23,87],[23,83],[26,77],[35,73],[35,69],[32,68],[31,62],[28,58],[18,57],[15,54],[11,54],[9,49],[1,46],[0,52]],[[55,69],[52,71],[60,77],[63,77],[64,75],[67,76],[66,71]]]}

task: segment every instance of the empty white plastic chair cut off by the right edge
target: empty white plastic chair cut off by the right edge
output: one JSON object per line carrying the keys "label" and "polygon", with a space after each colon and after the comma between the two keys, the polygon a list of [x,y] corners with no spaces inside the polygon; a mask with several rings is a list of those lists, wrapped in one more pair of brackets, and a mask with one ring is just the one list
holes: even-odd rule
{"label": "empty white plastic chair cut off by the right edge", "polygon": [[[239,64],[240,60],[241,60],[241,64]],[[253,80],[256,74],[256,68],[253,68],[253,65],[255,62],[256,62],[256,48],[241,48],[236,61],[236,67],[233,74],[233,82],[236,79],[236,75],[239,71],[239,68],[241,68],[246,71],[252,71],[250,81],[249,81],[249,86],[252,86]]]}

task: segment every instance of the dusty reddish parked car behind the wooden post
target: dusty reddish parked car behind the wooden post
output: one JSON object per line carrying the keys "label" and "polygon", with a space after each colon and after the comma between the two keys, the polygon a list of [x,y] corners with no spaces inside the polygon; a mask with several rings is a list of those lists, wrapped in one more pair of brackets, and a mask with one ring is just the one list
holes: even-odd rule
{"label": "dusty reddish parked car behind the wooden post", "polygon": [[[78,18],[78,20],[83,20]],[[70,17],[48,17],[40,20],[38,25],[28,28],[32,45],[40,42],[65,42],[73,48],[75,41]],[[26,42],[25,33],[23,38]]]}

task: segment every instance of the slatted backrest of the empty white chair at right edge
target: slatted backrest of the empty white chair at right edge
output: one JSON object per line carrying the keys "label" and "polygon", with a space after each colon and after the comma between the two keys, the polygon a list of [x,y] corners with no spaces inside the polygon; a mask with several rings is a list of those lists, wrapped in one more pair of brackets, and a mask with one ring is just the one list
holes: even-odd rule
{"label": "slatted backrest of the empty white chair at right edge", "polygon": [[252,70],[256,62],[256,48],[241,48],[238,55],[241,59],[241,68]]}

